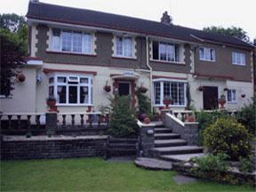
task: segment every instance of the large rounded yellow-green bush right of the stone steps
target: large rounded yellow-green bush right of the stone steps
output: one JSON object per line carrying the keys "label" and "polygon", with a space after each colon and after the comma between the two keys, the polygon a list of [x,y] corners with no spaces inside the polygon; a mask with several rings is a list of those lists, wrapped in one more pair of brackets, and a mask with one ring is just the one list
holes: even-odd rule
{"label": "large rounded yellow-green bush right of the stone steps", "polygon": [[227,154],[231,160],[249,156],[252,135],[232,118],[219,118],[204,130],[204,146],[213,155]]}

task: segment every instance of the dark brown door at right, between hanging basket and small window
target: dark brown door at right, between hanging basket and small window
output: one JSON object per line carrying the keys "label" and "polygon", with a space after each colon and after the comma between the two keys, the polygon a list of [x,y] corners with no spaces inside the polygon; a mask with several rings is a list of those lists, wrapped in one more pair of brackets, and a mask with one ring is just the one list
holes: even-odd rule
{"label": "dark brown door at right, between hanging basket and small window", "polygon": [[204,109],[212,110],[219,108],[218,103],[218,87],[204,86]]}

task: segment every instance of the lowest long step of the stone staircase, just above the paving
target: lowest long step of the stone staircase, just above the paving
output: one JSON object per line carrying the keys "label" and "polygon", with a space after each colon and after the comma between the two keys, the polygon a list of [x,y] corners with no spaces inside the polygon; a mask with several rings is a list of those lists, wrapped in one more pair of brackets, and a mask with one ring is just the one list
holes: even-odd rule
{"label": "lowest long step of the stone staircase, just above the paving", "polygon": [[193,154],[193,153],[203,153],[203,148],[197,147],[197,146],[178,146],[178,147],[149,149],[149,154],[154,157],[160,157],[164,155]]}

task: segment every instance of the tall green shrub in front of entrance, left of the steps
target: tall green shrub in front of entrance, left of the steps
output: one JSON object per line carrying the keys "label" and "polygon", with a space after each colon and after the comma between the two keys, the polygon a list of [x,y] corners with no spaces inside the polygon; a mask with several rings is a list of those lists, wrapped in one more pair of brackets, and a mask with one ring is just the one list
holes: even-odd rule
{"label": "tall green shrub in front of entrance, left of the steps", "polygon": [[116,96],[111,100],[108,133],[114,137],[127,137],[136,133],[136,119],[128,96]]}

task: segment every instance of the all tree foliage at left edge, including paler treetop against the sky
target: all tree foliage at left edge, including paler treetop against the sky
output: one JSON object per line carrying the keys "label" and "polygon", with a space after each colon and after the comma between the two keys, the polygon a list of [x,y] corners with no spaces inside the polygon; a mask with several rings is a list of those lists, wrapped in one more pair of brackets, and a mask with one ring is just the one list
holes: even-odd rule
{"label": "all tree foliage at left edge, including paler treetop against the sky", "polygon": [[28,26],[24,17],[12,14],[0,14],[1,47],[1,95],[6,97],[14,89],[17,69],[26,62],[28,53]]}

